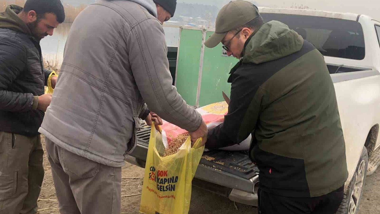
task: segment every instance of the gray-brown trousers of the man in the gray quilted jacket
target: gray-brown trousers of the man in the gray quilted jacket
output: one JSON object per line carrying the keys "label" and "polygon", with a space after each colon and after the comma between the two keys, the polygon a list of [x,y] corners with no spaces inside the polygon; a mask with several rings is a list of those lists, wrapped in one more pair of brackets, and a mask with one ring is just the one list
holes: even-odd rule
{"label": "gray-brown trousers of the man in the gray quilted jacket", "polygon": [[106,166],[46,139],[61,214],[119,214],[121,167]]}

